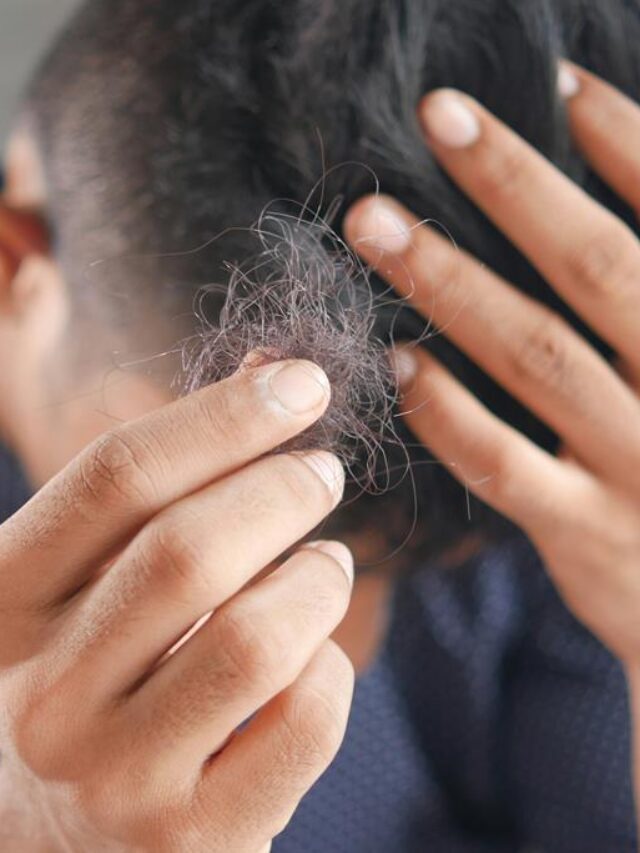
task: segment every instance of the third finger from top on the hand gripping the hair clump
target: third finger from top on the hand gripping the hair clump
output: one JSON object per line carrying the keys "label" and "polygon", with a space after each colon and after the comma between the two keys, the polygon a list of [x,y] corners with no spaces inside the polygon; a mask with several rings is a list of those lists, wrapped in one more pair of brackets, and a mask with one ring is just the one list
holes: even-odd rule
{"label": "third finger from top on the hand gripping the hair clump", "polygon": [[221,607],[160,667],[130,698],[127,715],[149,733],[161,771],[167,763],[179,764],[180,775],[199,770],[293,684],[344,617],[352,583],[344,546],[302,548]]}

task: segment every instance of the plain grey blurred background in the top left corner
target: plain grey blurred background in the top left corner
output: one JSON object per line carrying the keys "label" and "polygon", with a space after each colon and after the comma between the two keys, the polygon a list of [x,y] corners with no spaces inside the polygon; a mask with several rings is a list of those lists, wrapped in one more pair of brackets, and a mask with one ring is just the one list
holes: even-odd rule
{"label": "plain grey blurred background in the top left corner", "polygon": [[79,0],[0,0],[0,147],[20,92],[56,30]]}

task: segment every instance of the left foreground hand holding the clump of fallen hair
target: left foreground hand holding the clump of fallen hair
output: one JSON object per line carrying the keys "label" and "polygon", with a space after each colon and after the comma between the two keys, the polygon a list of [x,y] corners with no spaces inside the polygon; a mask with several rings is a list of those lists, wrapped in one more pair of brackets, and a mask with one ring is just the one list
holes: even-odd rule
{"label": "left foreground hand holding the clump of fallen hair", "polygon": [[316,543],[255,580],[344,479],[264,454],[328,399],[311,364],[247,368],[100,438],[0,528],[0,775],[29,832],[5,822],[3,850],[38,826],[47,851],[258,853],[284,828],[344,733],[328,637],[353,567]]}

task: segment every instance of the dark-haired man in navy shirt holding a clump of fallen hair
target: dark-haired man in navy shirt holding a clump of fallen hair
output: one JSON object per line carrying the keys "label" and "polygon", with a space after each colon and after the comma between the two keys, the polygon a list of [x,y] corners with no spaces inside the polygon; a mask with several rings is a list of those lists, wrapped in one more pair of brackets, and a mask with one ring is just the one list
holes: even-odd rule
{"label": "dark-haired man in navy shirt holding a clump of fallen hair", "polygon": [[[600,257],[615,245],[633,267],[636,238],[477,101],[436,93],[423,129],[415,119],[425,92],[464,88],[631,221],[604,182],[633,203],[636,108],[579,69],[560,77],[569,104],[556,86],[564,32],[562,53],[631,88],[637,10],[587,8],[579,35],[561,3],[91,0],[74,19],[7,158],[0,423],[31,482],[46,483],[0,537],[7,849],[267,848],[338,750],[353,664],[344,748],[275,849],[635,849],[624,675],[633,687],[637,400],[538,300],[632,365],[631,310],[595,286],[585,304],[573,285],[587,267],[571,282],[559,270],[563,247],[596,232]],[[619,132],[603,141],[588,116],[610,104]],[[568,153],[567,112],[584,159]],[[301,211],[318,138],[329,166],[356,163]],[[359,202],[343,232],[377,292],[387,280],[416,308],[398,319],[396,302],[374,300],[376,333],[424,336],[436,317],[455,346],[432,348],[494,414],[426,354],[396,354],[403,409],[445,465],[411,451],[404,491],[337,516],[360,565],[398,552],[417,569],[352,587],[343,545],[298,543],[341,499],[342,465],[317,443],[336,407],[357,410],[354,376],[379,358],[375,340],[351,319],[316,358],[317,314],[303,301],[314,323],[300,326],[296,302],[266,324],[275,337],[251,327],[227,378],[214,359],[221,381],[171,402],[167,377],[212,278],[248,283],[249,298],[284,288],[281,308],[308,297],[299,285],[317,268],[344,271],[311,239],[313,211],[342,195],[344,213],[371,189],[370,168],[397,200]],[[271,228],[263,267],[252,258],[265,229],[250,226],[283,197],[268,221],[294,217],[293,253],[273,254]],[[49,255],[23,215],[34,210]],[[519,290],[438,242],[424,217],[459,229]],[[465,290],[445,290],[460,267]],[[348,308],[363,288],[347,288]],[[335,321],[341,303],[313,292]],[[219,301],[214,290],[204,306],[207,357],[229,333],[233,300]],[[310,336],[302,360],[269,346],[292,322]],[[434,554],[457,568],[420,571]]]}

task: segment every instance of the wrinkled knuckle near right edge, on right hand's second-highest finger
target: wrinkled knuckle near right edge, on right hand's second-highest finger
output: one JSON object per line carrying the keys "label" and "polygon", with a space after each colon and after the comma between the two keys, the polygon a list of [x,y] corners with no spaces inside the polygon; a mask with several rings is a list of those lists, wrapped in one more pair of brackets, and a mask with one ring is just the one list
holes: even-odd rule
{"label": "wrinkled knuckle near right edge, on right hand's second-highest finger", "polygon": [[571,278],[587,295],[608,302],[637,299],[639,264],[636,239],[620,223],[608,225],[568,259]]}

